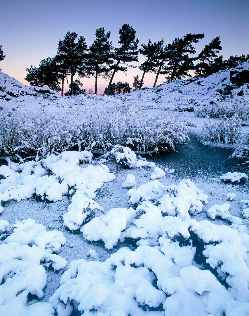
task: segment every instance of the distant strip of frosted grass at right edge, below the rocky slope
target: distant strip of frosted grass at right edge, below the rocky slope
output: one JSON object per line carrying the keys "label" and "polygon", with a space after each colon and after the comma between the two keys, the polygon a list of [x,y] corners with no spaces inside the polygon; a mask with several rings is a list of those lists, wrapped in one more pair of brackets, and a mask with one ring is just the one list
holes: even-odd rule
{"label": "distant strip of frosted grass at right edge, below the rocky slope", "polygon": [[195,110],[196,117],[232,118],[236,114],[241,119],[246,119],[249,114],[249,106],[237,103],[216,103],[210,106],[198,106]]}

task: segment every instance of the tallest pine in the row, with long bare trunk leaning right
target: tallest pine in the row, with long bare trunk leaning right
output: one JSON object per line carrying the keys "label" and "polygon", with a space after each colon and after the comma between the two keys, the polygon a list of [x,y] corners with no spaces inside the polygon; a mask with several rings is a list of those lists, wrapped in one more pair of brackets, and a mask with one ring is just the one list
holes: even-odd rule
{"label": "tallest pine in the row, with long bare trunk leaning right", "polygon": [[[106,95],[109,94],[109,89],[112,83],[112,80],[114,78],[114,75],[117,71],[127,71],[127,66],[120,66],[120,63],[129,63],[132,61],[138,61],[138,39],[136,38],[136,31],[132,26],[129,26],[129,24],[123,24],[121,28],[119,29],[119,38],[118,44],[121,45],[120,48],[115,47],[114,48],[114,54],[113,58],[116,61],[116,64],[112,66],[113,73],[110,78],[109,85],[106,90]],[[129,65],[131,66],[131,65]],[[134,67],[134,66],[131,66]]]}

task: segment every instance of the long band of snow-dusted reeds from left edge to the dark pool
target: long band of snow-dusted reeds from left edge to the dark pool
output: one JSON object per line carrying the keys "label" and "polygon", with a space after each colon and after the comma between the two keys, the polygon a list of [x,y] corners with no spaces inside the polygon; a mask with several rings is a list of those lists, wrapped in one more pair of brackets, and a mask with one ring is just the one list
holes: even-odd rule
{"label": "long band of snow-dusted reeds from left edge to the dark pool", "polygon": [[188,140],[188,126],[192,124],[173,112],[154,118],[132,105],[106,110],[72,106],[54,113],[18,108],[1,112],[0,155],[46,154],[89,146],[106,152],[115,144],[142,152],[174,150],[175,143]]}

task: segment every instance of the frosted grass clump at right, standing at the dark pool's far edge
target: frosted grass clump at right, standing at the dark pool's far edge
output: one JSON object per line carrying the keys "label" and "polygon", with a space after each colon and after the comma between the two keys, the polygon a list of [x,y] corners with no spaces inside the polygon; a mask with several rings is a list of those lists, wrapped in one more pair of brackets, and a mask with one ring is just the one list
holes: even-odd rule
{"label": "frosted grass clump at right, standing at the dark pool's far edge", "polygon": [[241,135],[241,119],[238,115],[221,119],[220,123],[205,123],[202,129],[202,139],[214,143],[233,144]]}

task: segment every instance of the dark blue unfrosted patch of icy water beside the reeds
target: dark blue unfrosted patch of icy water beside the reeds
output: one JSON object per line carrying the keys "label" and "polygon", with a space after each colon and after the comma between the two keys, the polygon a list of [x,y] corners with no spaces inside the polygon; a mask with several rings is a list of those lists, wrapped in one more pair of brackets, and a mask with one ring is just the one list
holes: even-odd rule
{"label": "dark blue unfrosted patch of icy water beside the reeds", "polygon": [[146,156],[161,168],[174,168],[183,179],[212,178],[227,172],[248,173],[249,168],[229,157],[233,151],[225,147],[204,146],[199,135],[188,133],[191,143],[175,146],[175,152],[160,152]]}

